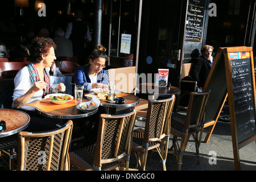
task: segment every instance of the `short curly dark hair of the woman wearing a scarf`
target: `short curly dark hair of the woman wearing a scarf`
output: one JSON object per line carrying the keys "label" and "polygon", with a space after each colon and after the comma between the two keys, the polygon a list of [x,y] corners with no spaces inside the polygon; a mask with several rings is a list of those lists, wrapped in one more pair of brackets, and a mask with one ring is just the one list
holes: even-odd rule
{"label": "short curly dark hair of the woman wearing a scarf", "polygon": [[49,49],[53,47],[56,49],[56,44],[51,38],[35,38],[30,45],[30,60],[40,63],[42,54],[48,55]]}

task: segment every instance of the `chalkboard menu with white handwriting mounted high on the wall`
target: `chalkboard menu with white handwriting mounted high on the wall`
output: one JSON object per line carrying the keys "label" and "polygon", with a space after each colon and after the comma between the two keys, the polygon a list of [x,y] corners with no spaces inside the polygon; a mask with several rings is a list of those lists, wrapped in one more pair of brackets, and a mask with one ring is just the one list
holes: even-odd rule
{"label": "chalkboard menu with white handwriting mounted high on the wall", "polygon": [[201,41],[205,16],[205,2],[204,0],[189,0],[185,40]]}

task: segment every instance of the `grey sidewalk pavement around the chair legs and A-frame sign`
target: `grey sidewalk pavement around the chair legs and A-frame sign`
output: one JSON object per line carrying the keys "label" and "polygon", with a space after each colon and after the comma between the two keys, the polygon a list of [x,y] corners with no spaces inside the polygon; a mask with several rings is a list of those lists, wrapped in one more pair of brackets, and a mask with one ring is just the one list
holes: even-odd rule
{"label": "grey sidewalk pavement around the chair legs and A-frame sign", "polygon": [[[144,121],[137,121],[135,128],[144,126]],[[230,122],[218,121],[214,127],[213,134],[209,142],[204,143],[208,128],[204,130],[203,142],[200,144],[200,164],[197,164],[195,154],[195,142],[193,137],[189,139],[183,157],[181,171],[235,171],[232,135],[230,130]],[[170,137],[169,148],[172,145],[172,137]],[[216,152],[216,163],[213,162],[210,151]],[[150,155],[150,152],[148,153]],[[251,142],[239,150],[241,171],[256,171],[256,144]],[[134,168],[135,156],[132,152],[130,160],[130,168]],[[168,154],[166,162],[167,171],[177,171],[177,161],[174,154]],[[161,171],[162,163],[158,152],[154,152],[151,158],[148,158],[146,164],[147,171]]]}

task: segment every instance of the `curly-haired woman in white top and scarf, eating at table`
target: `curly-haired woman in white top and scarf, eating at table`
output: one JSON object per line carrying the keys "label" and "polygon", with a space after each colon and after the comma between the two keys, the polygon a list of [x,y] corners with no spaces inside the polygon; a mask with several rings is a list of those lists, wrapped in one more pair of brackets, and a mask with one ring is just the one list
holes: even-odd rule
{"label": "curly-haired woman in white top and scarf, eating at table", "polygon": [[[51,67],[55,57],[56,45],[50,38],[36,38],[31,44],[30,63],[20,69],[14,78],[13,106],[30,115],[30,126],[26,131],[46,131],[51,128],[51,123],[40,122],[40,115],[35,113],[32,102],[40,101],[47,94],[51,94],[51,82],[46,67]],[[65,85],[60,83],[56,88],[65,91]],[[40,122],[40,123],[39,123]],[[39,126],[44,123],[43,126]]]}

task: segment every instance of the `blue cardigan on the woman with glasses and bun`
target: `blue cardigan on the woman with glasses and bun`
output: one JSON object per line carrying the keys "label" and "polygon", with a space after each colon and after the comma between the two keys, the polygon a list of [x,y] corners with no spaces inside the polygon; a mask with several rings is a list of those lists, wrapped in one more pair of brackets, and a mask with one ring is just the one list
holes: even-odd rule
{"label": "blue cardigan on the woman with glasses and bun", "polygon": [[[89,66],[81,65],[76,67],[74,72],[74,82],[76,85],[84,85],[84,93],[88,93],[87,87],[90,83],[89,77]],[[100,71],[97,75],[97,82],[108,85],[108,79],[106,77],[106,72],[104,69]]]}

